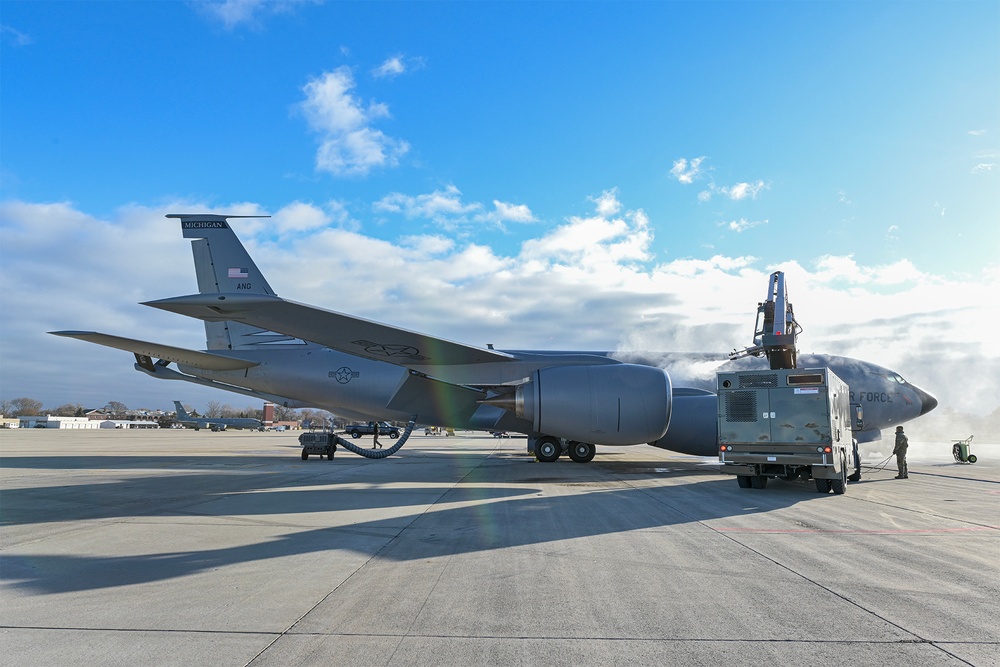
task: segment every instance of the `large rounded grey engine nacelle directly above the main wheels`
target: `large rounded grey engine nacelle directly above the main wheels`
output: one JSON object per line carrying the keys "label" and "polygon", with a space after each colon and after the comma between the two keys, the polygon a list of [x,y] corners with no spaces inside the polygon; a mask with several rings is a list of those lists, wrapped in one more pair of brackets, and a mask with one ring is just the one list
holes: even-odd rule
{"label": "large rounded grey engine nacelle directly above the main wheels", "polygon": [[598,445],[655,442],[670,423],[670,376],[652,366],[554,366],[517,387],[514,412],[536,433]]}

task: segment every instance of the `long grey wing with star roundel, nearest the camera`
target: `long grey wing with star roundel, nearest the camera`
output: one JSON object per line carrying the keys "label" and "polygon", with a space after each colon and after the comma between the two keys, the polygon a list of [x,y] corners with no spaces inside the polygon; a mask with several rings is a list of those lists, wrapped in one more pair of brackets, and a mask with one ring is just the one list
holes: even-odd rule
{"label": "long grey wing with star roundel, nearest the camera", "polygon": [[483,349],[288,301],[269,294],[192,294],[145,306],[207,322],[235,321],[405,368],[516,361]]}

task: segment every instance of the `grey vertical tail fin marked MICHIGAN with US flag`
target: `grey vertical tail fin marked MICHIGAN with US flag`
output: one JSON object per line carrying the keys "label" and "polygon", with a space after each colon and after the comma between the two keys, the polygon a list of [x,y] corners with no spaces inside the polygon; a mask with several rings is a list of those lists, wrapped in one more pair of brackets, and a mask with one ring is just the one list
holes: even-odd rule
{"label": "grey vertical tail fin marked MICHIGAN with US flag", "polygon": [[[181,232],[192,239],[194,269],[201,294],[268,294],[274,290],[237,238],[230,218],[269,216],[215,215],[210,213],[170,213],[168,218],[181,221]],[[264,345],[298,343],[284,334],[253,327],[241,322],[205,322],[209,350],[250,350]]]}

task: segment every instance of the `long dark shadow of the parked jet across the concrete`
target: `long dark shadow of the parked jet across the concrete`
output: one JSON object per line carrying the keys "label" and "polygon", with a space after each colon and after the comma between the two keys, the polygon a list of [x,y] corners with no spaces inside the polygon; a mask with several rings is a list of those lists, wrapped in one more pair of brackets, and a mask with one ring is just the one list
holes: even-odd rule
{"label": "long dark shadow of the parked jet across the concrete", "polygon": [[[568,461],[535,464],[527,457],[518,457],[519,461],[484,459],[461,453],[420,453],[410,461],[428,457],[453,460],[447,468],[433,466],[448,473],[447,479],[428,476],[428,466],[405,465],[402,457],[391,469],[384,462],[340,467],[337,461],[317,461],[290,468],[285,474],[276,474],[274,458],[267,457],[272,469],[260,474],[179,473],[55,489],[7,490],[2,518],[8,526],[104,518],[251,517],[248,528],[271,525],[279,528],[274,532],[280,532],[294,526],[295,518],[289,514],[373,509],[379,518],[310,527],[218,549],[113,557],[24,556],[7,549],[0,579],[6,586],[27,593],[56,594],[169,580],[238,563],[333,550],[379,553],[380,558],[410,561],[697,523],[823,499],[802,484],[774,484],[764,492],[738,489],[732,478],[713,469],[693,465],[657,468],[664,465],[662,461],[583,466]],[[162,465],[168,457],[150,457],[145,464],[136,460],[143,457],[124,458],[129,459],[130,467],[152,467],[154,461]],[[188,458],[202,465],[206,462],[204,458]],[[3,461],[4,467],[28,464],[22,461],[19,465],[6,457]],[[385,467],[376,475],[360,474],[373,464]],[[103,467],[108,467],[107,461]],[[628,474],[630,470],[633,474]],[[629,484],[631,480],[678,474],[684,479],[665,485]],[[692,476],[695,479],[690,479]],[[393,486],[407,481],[416,486]],[[455,482],[457,486],[434,486]],[[555,484],[558,489],[543,493],[538,486],[541,483]],[[365,488],[338,488],[338,484]],[[310,485],[316,488],[308,488]],[[385,516],[386,510],[408,506],[414,510]],[[273,524],[252,518],[275,514],[281,517]],[[310,523],[315,525],[315,519]],[[183,521],[167,525],[172,530],[185,530]],[[201,528],[204,525],[202,522]],[[220,522],[220,528],[223,525],[233,530],[232,521]],[[397,540],[406,531],[412,532]]]}

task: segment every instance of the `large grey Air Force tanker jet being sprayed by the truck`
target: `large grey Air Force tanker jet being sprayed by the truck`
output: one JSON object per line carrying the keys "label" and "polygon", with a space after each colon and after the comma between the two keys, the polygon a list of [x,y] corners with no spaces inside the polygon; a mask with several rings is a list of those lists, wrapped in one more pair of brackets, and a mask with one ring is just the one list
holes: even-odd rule
{"label": "large grey Air Force tanker jet being sprayed by the truck", "polygon": [[[587,462],[595,445],[715,456],[715,371],[767,368],[760,358],[713,353],[496,350],[296,303],[274,292],[229,226],[244,216],[167,217],[178,218],[192,239],[199,293],[143,305],[204,320],[207,351],[93,331],[52,333],[132,352],[136,370],[154,378],[289,408],[525,433],[545,461],[565,451]],[[678,380],[692,364],[717,365],[707,377]],[[798,366],[829,367],[848,384],[859,442],[878,440],[883,428],[937,405],[898,373],[869,362],[799,355]]]}

